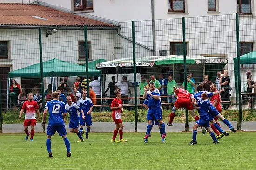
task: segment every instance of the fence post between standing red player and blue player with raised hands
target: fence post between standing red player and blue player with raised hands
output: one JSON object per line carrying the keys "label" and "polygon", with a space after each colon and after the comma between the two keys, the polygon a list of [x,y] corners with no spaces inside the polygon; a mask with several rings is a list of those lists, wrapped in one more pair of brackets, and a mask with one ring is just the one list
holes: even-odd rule
{"label": "fence post between standing red player and blue player with raised hands", "polygon": [[134,100],[135,100],[135,132],[137,132],[138,123],[138,104],[137,104],[137,78],[136,78],[136,51],[135,51],[135,26],[132,21],[132,36],[133,36],[133,75],[134,75]]}

